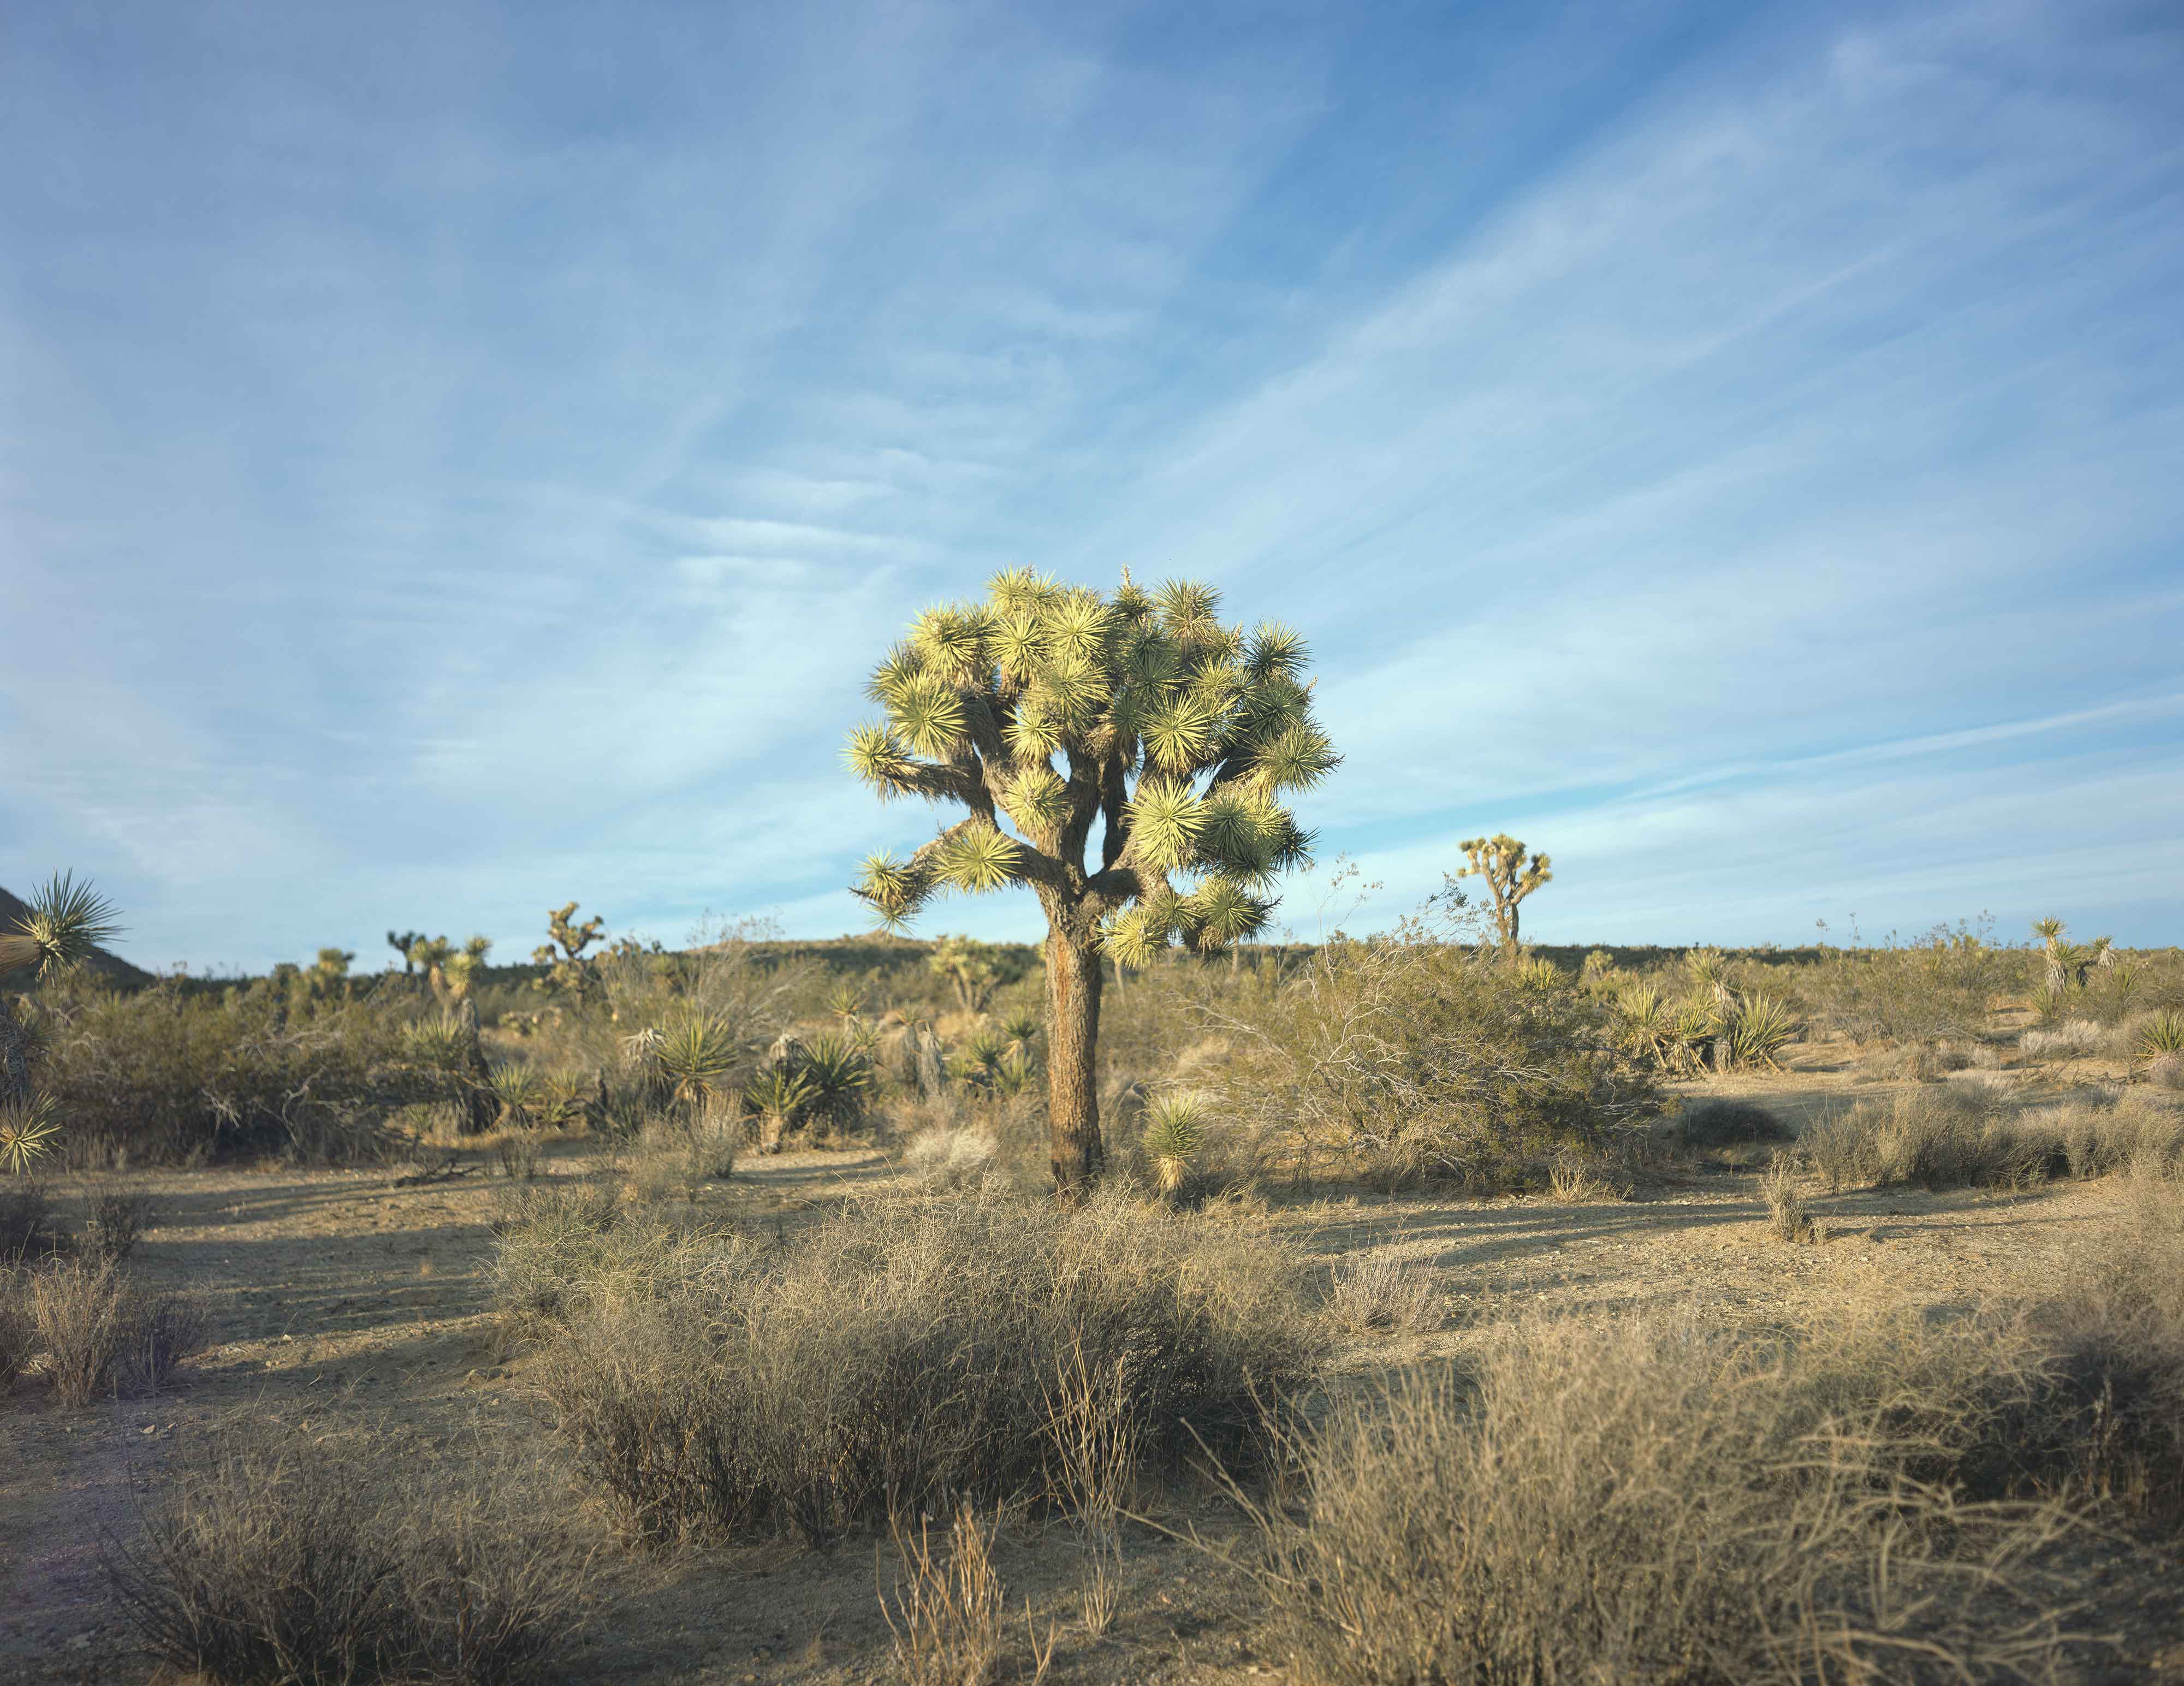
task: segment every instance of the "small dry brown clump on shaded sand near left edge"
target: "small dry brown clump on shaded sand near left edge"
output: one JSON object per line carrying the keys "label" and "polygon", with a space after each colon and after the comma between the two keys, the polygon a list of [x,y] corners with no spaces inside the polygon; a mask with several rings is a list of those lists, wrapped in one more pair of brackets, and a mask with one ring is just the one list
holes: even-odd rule
{"label": "small dry brown clump on shaded sand near left edge", "polygon": [[142,1293],[114,1265],[72,1260],[31,1271],[28,1313],[46,1380],[61,1404],[157,1393],[205,1347],[205,1308],[192,1295]]}

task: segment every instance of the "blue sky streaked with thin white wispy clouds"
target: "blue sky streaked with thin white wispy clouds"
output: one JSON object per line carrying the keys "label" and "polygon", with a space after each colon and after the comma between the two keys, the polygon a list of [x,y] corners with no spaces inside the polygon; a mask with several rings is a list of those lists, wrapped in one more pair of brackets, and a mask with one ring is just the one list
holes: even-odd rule
{"label": "blue sky streaked with thin white wispy clouds", "polygon": [[1029,561],[1313,638],[1378,915],[1511,830],[1542,941],[2184,941],[2177,85],[2099,0],[22,7],[0,884],[865,928],[863,673]]}

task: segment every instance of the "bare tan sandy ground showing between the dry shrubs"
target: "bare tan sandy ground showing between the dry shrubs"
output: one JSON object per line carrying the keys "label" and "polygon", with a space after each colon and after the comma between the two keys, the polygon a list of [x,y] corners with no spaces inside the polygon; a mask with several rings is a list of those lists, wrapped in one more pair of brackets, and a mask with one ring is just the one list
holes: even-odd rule
{"label": "bare tan sandy ground showing between the dry shrubs", "polygon": [[[1841,1068],[1719,1085],[1804,1116],[1850,1088]],[[553,1149],[548,1175],[583,1175],[598,1149]],[[708,1201],[719,1216],[791,1223],[843,1186],[893,1175],[871,1153],[751,1160]],[[290,1166],[127,1179],[155,1201],[135,1269],[151,1286],[207,1295],[216,1345],[170,1393],[63,1411],[37,1391],[0,1404],[0,1679],[144,1682],[98,1566],[100,1529],[127,1535],[179,1444],[238,1411],[282,1422],[367,1424],[426,1444],[537,1448],[553,1457],[522,1356],[496,1347],[485,1269],[487,1168],[424,1186],[393,1171]],[[81,1184],[55,1186],[63,1208]],[[1933,1302],[2053,1278],[2118,1234],[2110,1184],[2031,1195],[1854,1195],[1815,1201],[1821,1247],[1767,1238],[1756,1177],[1723,1171],[1623,1203],[1339,1197],[1275,1203],[1267,1223],[1308,1256],[1391,1249],[1428,1262],[1446,1326],[1358,1341],[1348,1378],[1455,1352],[1516,1308],[1599,1310],[1693,1295],[1723,1310],[1824,1306],[1876,1286]],[[570,1498],[566,1503],[581,1503]],[[1221,1537],[1210,1494],[1173,1492],[1164,1513]],[[1129,1544],[1123,1614],[1101,1638],[1077,1620],[1077,1555],[1059,1524],[1009,1524],[998,1566],[1016,1616],[1057,1636],[1053,1682],[1243,1682],[1278,1677],[1251,1653],[1238,1588],[1151,1531]],[[887,1675],[871,1544],[601,1555],[598,1607],[566,1658],[577,1679],[863,1682]],[[2184,1634],[2158,1586],[2123,1577],[2123,1662],[2088,1679],[2184,1679]]]}

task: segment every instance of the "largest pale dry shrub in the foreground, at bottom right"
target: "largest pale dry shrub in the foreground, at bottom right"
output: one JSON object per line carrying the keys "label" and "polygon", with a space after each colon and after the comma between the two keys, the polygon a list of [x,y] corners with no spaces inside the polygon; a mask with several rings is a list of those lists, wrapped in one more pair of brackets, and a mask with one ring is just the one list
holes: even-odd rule
{"label": "largest pale dry shrub in the foreground, at bottom right", "polygon": [[[2040,1673],[2062,1620],[2057,1505],[1924,1481],[1979,1450],[1996,1328],[1913,1354],[1693,1315],[1527,1321],[1470,1374],[1398,1378],[1293,1444],[1302,1503],[1256,1511],[1299,1679],[1913,1679]],[[2022,1389],[2016,1389],[2022,1391]],[[1939,1424],[1939,1433],[1935,1430]],[[1987,1677],[1987,1675],[1979,1675]]]}

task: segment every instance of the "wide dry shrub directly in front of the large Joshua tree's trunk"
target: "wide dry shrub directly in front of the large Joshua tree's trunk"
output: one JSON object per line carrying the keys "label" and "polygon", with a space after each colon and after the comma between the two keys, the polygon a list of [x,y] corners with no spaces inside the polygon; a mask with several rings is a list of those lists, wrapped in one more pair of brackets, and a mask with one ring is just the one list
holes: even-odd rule
{"label": "wide dry shrub directly in front of the large Joshua tree's trunk", "polygon": [[[609,1238],[612,1240],[612,1238]],[[1120,1367],[1149,1459],[1249,1461],[1317,1343],[1275,1243],[1109,1192],[850,1208],[762,1249],[598,1256],[542,1387],[644,1537],[830,1540],[946,1494],[1040,1498],[1059,1367]]]}

